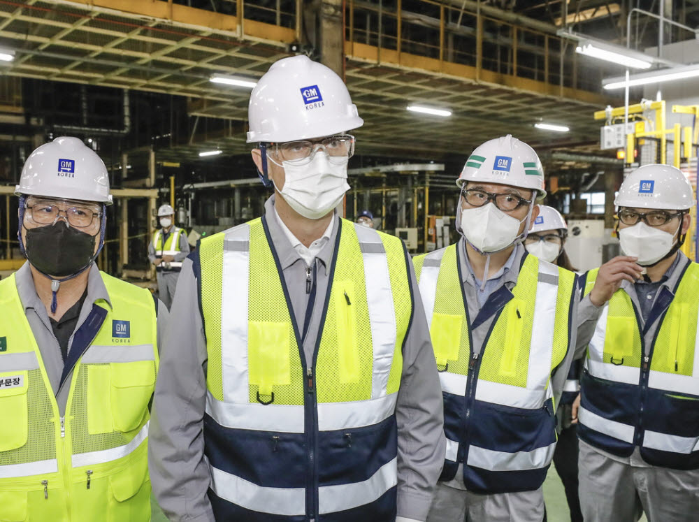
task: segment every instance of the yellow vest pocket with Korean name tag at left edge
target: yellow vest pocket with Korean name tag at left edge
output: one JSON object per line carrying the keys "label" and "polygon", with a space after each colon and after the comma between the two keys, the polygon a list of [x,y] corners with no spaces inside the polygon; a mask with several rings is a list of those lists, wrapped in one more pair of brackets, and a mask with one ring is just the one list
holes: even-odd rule
{"label": "yellow vest pocket with Korean name tag at left edge", "polygon": [[27,444],[27,373],[26,370],[0,373],[0,412],[3,415],[0,422],[0,451],[10,451]]}

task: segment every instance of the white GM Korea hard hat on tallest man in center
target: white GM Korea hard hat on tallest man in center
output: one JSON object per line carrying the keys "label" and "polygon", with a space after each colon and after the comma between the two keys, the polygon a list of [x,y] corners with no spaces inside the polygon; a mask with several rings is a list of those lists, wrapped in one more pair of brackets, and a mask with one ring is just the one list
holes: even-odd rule
{"label": "white GM Korea hard hat on tallest man in center", "polygon": [[345,82],[305,55],[275,61],[250,94],[247,143],[322,138],[361,127]]}

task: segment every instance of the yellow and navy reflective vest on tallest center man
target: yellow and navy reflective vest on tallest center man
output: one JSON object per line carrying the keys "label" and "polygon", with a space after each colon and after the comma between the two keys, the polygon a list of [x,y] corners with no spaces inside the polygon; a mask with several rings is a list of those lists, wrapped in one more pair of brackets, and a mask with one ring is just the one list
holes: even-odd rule
{"label": "yellow and navy reflective vest on tallest center man", "polygon": [[202,240],[196,263],[216,518],[394,519],[395,409],[413,310],[402,242],[340,222],[312,367],[265,218]]}

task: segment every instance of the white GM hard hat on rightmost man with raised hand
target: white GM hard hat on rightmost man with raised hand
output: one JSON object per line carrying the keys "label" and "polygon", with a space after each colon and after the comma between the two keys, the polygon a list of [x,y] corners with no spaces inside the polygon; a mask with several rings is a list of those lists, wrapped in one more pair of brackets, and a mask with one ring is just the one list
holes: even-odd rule
{"label": "white GM hard hat on rightmost man with raised hand", "polygon": [[669,165],[644,165],[626,176],[614,199],[617,207],[687,210],[694,194],[687,177]]}

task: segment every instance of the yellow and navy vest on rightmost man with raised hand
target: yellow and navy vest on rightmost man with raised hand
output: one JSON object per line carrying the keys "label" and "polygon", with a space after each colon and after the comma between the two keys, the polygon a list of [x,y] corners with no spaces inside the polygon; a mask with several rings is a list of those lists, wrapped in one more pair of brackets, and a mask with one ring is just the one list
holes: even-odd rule
{"label": "yellow and navy vest on rightmost man with raised hand", "polygon": [[[586,277],[585,293],[598,269]],[[660,321],[646,349],[639,312],[623,289],[605,305],[581,379],[579,436],[617,456],[640,447],[647,463],[699,469],[699,264],[677,287],[661,287],[647,325]]]}

